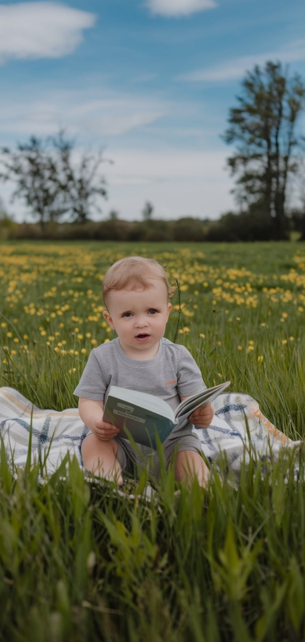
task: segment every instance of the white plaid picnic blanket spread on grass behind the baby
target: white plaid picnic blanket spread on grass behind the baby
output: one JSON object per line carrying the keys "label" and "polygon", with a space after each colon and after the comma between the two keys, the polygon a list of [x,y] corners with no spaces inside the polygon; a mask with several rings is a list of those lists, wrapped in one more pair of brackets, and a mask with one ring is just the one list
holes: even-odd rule
{"label": "white plaid picnic blanket spread on grass behind the baby", "polygon": [[[251,456],[274,461],[283,447],[302,443],[279,431],[249,395],[235,392],[218,395],[213,408],[213,423],[194,431],[208,461],[217,464],[220,456],[225,455],[227,465],[236,474],[242,462],[247,464]],[[77,408],[62,412],[40,409],[17,390],[0,387],[0,436],[8,462],[15,466],[26,464],[30,433],[31,462],[45,460],[45,474],[52,474],[67,453],[75,455],[83,468],[81,443],[88,428]]]}

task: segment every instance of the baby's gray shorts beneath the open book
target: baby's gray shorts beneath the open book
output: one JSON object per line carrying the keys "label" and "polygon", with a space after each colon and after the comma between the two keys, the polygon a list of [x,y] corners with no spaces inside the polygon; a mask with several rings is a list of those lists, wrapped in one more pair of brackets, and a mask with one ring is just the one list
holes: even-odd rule
{"label": "baby's gray shorts beneath the open book", "polygon": [[[136,444],[136,450],[131,446],[128,439],[115,437],[118,444],[117,460],[122,471],[135,475],[140,469],[147,469],[155,478],[160,476],[159,453],[149,448]],[[163,461],[166,467],[169,466],[172,458],[181,451],[201,451],[201,444],[197,435],[192,433],[192,424],[188,423],[183,429],[174,429],[169,437],[163,442]]]}

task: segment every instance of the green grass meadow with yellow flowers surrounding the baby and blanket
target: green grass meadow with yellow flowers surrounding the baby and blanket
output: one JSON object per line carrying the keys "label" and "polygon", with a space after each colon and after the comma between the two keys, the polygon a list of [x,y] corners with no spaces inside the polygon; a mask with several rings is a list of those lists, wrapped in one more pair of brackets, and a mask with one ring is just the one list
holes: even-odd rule
{"label": "green grass meadow with yellow flowers surrounding the baby and blanket", "polygon": [[[77,405],[92,347],[114,334],[101,284],[128,254],[167,265],[167,325],[208,386],[231,380],[305,437],[302,243],[1,243],[0,385],[41,408]],[[293,457],[300,466],[298,479]],[[74,460],[46,483],[0,463],[0,639],[268,642],[305,638],[304,453],[208,489],[162,471],[156,499],[89,483]],[[129,489],[130,490],[130,489]]]}

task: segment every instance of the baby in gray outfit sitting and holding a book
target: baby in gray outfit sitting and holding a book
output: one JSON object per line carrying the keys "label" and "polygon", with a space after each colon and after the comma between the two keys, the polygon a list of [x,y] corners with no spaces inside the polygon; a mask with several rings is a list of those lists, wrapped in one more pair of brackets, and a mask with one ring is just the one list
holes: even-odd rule
{"label": "baby in gray outfit sitting and holding a book", "polygon": [[[97,476],[123,483],[122,472],[135,473],[156,452],[117,437],[119,429],[103,421],[103,406],[111,385],[142,390],[165,399],[175,409],[186,397],[206,385],[192,355],[183,345],[164,338],[169,318],[171,287],[165,269],[153,259],[131,256],[120,259],[103,281],[104,318],[117,338],[90,352],[74,394],[79,397],[79,415],[90,429],[81,446],[86,469]],[[206,428],[213,408],[198,408],[175,427],[163,442],[165,464],[173,460],[177,480],[197,477],[208,481],[208,467],[192,423]]]}

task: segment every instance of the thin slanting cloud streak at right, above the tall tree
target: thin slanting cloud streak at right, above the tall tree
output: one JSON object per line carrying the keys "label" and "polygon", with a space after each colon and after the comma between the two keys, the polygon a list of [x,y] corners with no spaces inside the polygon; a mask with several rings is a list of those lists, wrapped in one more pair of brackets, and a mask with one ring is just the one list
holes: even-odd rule
{"label": "thin slanting cloud streak at right, above the tall tree", "polygon": [[189,73],[182,74],[177,80],[188,82],[222,82],[226,80],[236,80],[241,78],[246,71],[251,70],[254,65],[264,65],[267,60],[277,62],[296,62],[305,60],[305,40],[298,40],[279,49],[267,53],[253,54],[249,56],[240,56],[240,58],[231,58],[220,65],[197,69]]}

